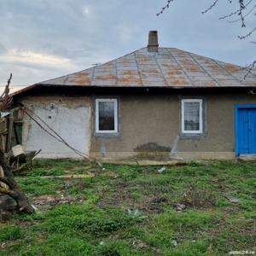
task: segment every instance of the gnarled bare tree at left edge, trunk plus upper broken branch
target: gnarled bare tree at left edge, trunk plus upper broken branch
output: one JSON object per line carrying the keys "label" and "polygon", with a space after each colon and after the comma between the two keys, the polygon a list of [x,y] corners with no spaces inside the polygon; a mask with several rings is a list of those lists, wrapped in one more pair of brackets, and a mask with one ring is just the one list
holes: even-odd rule
{"label": "gnarled bare tree at left edge, trunk plus upper broken branch", "polygon": [[[3,94],[0,97],[1,113],[7,111],[9,104],[12,101],[11,97],[9,96],[9,84],[11,82],[11,79],[12,74],[10,74],[7,85],[5,86],[5,90],[3,91]],[[9,166],[9,160],[4,154],[3,133],[4,131],[0,131],[0,194],[9,195],[11,198],[13,198],[17,203],[17,211],[32,213],[34,209],[32,205],[29,203],[22,189],[20,189],[19,184],[16,183],[15,177]]]}

